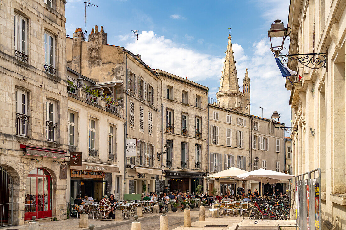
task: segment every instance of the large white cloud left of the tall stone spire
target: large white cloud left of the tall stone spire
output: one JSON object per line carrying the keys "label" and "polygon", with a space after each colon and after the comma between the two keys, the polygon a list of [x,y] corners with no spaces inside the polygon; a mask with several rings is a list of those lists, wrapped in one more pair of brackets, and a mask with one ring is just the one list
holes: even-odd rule
{"label": "large white cloud left of the tall stone spire", "polygon": [[[136,51],[136,41],[132,38],[126,48]],[[220,78],[223,57],[201,53],[184,48],[153,31],[142,31],[138,38],[138,53],[151,68],[162,69],[193,81]]]}

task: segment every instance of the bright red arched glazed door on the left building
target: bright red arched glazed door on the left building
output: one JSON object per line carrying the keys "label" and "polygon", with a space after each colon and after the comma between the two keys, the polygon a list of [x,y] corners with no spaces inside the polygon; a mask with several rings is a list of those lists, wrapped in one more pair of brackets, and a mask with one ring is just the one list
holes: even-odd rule
{"label": "bright red arched glazed door on the left building", "polygon": [[30,171],[25,187],[25,220],[52,217],[52,177],[44,168]]}

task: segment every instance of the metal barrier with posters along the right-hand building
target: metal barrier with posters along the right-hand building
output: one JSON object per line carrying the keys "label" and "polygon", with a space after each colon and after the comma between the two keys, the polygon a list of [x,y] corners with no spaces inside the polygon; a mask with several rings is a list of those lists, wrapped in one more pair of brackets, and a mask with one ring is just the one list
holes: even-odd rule
{"label": "metal barrier with posters along the right-hand building", "polygon": [[320,168],[295,177],[296,223],[300,230],[322,229],[320,186]]}

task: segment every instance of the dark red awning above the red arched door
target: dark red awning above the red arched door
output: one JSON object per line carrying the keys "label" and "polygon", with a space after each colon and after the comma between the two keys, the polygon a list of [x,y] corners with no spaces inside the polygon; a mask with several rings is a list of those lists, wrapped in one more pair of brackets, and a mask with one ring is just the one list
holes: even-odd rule
{"label": "dark red awning above the red arched door", "polygon": [[39,156],[39,157],[52,157],[65,159],[67,151],[60,149],[49,149],[39,146],[29,146],[26,144],[20,144],[20,148],[25,150],[25,155]]}

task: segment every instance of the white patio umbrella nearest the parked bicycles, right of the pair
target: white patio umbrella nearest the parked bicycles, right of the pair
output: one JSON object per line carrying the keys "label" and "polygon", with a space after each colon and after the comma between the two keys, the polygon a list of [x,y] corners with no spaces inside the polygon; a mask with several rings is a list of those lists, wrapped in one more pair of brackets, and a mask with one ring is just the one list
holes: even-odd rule
{"label": "white patio umbrella nearest the parked bicycles, right of the pair", "polygon": [[280,180],[291,179],[292,177],[293,175],[291,174],[260,168],[251,172],[239,174],[237,176],[234,176],[233,178],[239,179],[239,180],[255,180],[261,183],[273,184],[273,183],[279,182]]}

